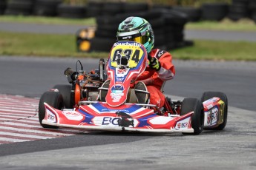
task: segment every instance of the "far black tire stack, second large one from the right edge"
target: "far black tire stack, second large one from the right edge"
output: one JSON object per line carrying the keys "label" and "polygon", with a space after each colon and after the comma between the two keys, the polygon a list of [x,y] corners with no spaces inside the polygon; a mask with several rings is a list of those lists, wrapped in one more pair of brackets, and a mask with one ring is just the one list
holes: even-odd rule
{"label": "far black tire stack, second large one from the right edge", "polygon": [[206,21],[220,21],[229,13],[229,4],[205,3],[202,4],[202,19]]}

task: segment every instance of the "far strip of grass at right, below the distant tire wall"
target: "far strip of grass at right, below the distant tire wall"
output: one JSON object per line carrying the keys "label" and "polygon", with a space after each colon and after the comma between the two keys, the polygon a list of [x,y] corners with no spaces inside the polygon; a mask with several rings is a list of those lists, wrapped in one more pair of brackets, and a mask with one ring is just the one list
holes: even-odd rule
{"label": "far strip of grass at right, below the distant tire wall", "polygon": [[256,23],[250,19],[231,21],[228,18],[222,21],[199,21],[186,24],[188,30],[224,30],[224,31],[252,31],[256,32]]}

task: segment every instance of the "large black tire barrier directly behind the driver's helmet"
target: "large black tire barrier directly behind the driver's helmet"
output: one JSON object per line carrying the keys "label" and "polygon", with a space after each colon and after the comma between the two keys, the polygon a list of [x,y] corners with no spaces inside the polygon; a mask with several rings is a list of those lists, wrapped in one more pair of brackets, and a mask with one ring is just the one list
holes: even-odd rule
{"label": "large black tire barrier directly behind the driver's helmet", "polygon": [[111,50],[112,45],[116,42],[116,30],[119,23],[129,16],[140,16],[151,24],[155,36],[154,47],[156,48],[172,50],[193,44],[191,41],[184,40],[183,30],[188,22],[185,13],[167,8],[155,8],[140,13],[118,13],[115,16],[97,17],[95,36],[90,40],[89,51],[108,52]]}

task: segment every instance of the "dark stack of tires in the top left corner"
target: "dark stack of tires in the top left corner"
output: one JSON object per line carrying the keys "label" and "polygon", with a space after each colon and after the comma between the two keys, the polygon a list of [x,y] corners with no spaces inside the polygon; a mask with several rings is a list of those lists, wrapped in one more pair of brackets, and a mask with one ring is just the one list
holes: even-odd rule
{"label": "dark stack of tires in the top left corner", "polygon": [[33,13],[33,0],[10,0],[7,1],[5,15],[29,16]]}

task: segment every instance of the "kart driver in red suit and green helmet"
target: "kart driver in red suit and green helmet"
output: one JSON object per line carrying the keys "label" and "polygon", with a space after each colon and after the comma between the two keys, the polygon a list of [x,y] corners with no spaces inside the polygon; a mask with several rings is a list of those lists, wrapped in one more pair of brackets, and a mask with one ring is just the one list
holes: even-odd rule
{"label": "kart driver in red suit and green helmet", "polygon": [[[128,17],[119,24],[117,30],[117,41],[136,41],[143,44],[148,52],[148,67],[145,72],[137,78],[135,82],[135,95],[137,103],[151,103],[157,105],[159,108],[163,107],[165,102],[165,95],[161,89],[165,81],[174,78],[175,69],[174,64],[171,63],[172,57],[169,52],[160,49],[153,49],[154,47],[154,32],[151,24],[144,18]],[[149,72],[154,72],[151,77],[148,77]],[[108,88],[110,81],[105,81],[102,85]],[[133,87],[131,85],[131,87]],[[105,101],[107,92],[100,92],[99,98]]]}

